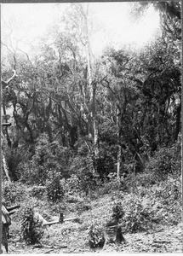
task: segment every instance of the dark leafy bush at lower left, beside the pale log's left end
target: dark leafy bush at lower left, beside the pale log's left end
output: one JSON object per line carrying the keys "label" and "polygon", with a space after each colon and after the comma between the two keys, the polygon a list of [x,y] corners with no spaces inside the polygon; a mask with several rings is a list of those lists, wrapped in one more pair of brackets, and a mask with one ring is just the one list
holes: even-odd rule
{"label": "dark leafy bush at lower left, beside the pale log's left end", "polygon": [[32,208],[26,208],[21,222],[21,234],[26,244],[40,243],[43,237],[43,230],[34,219]]}

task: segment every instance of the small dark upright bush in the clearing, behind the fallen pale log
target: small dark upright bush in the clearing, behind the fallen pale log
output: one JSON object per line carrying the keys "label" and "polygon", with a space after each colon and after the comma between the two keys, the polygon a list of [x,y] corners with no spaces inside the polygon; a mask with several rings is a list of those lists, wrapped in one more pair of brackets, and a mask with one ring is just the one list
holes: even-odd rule
{"label": "small dark upright bush in the clearing, behind the fallen pale log", "polygon": [[49,201],[60,201],[64,197],[64,189],[60,183],[60,177],[54,176],[51,181],[46,184],[47,197]]}

